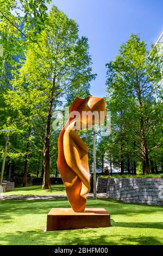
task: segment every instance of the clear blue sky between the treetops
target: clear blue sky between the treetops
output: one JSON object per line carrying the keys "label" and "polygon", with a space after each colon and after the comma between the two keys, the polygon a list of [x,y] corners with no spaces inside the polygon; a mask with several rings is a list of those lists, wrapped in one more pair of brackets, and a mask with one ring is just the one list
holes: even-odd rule
{"label": "clear blue sky between the treetops", "polygon": [[113,60],[131,33],[148,46],[163,31],[163,0],[53,0],[53,4],[77,21],[79,34],[89,39],[93,96],[105,95],[105,64]]}

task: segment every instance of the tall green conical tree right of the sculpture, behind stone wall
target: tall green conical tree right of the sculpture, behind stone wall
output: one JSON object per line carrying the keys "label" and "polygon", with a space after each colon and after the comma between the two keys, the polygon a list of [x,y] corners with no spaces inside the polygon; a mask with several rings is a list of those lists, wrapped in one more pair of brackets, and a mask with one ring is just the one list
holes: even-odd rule
{"label": "tall green conical tree right of the sculpture, behind stone wall", "polygon": [[132,149],[134,155],[141,156],[143,173],[148,174],[149,153],[162,145],[160,136],[150,142],[152,130],[161,127],[161,101],[155,102],[154,90],[160,92],[162,59],[154,46],[149,55],[145,42],[131,35],[106,67],[107,97],[120,136],[121,161],[124,147]]}

